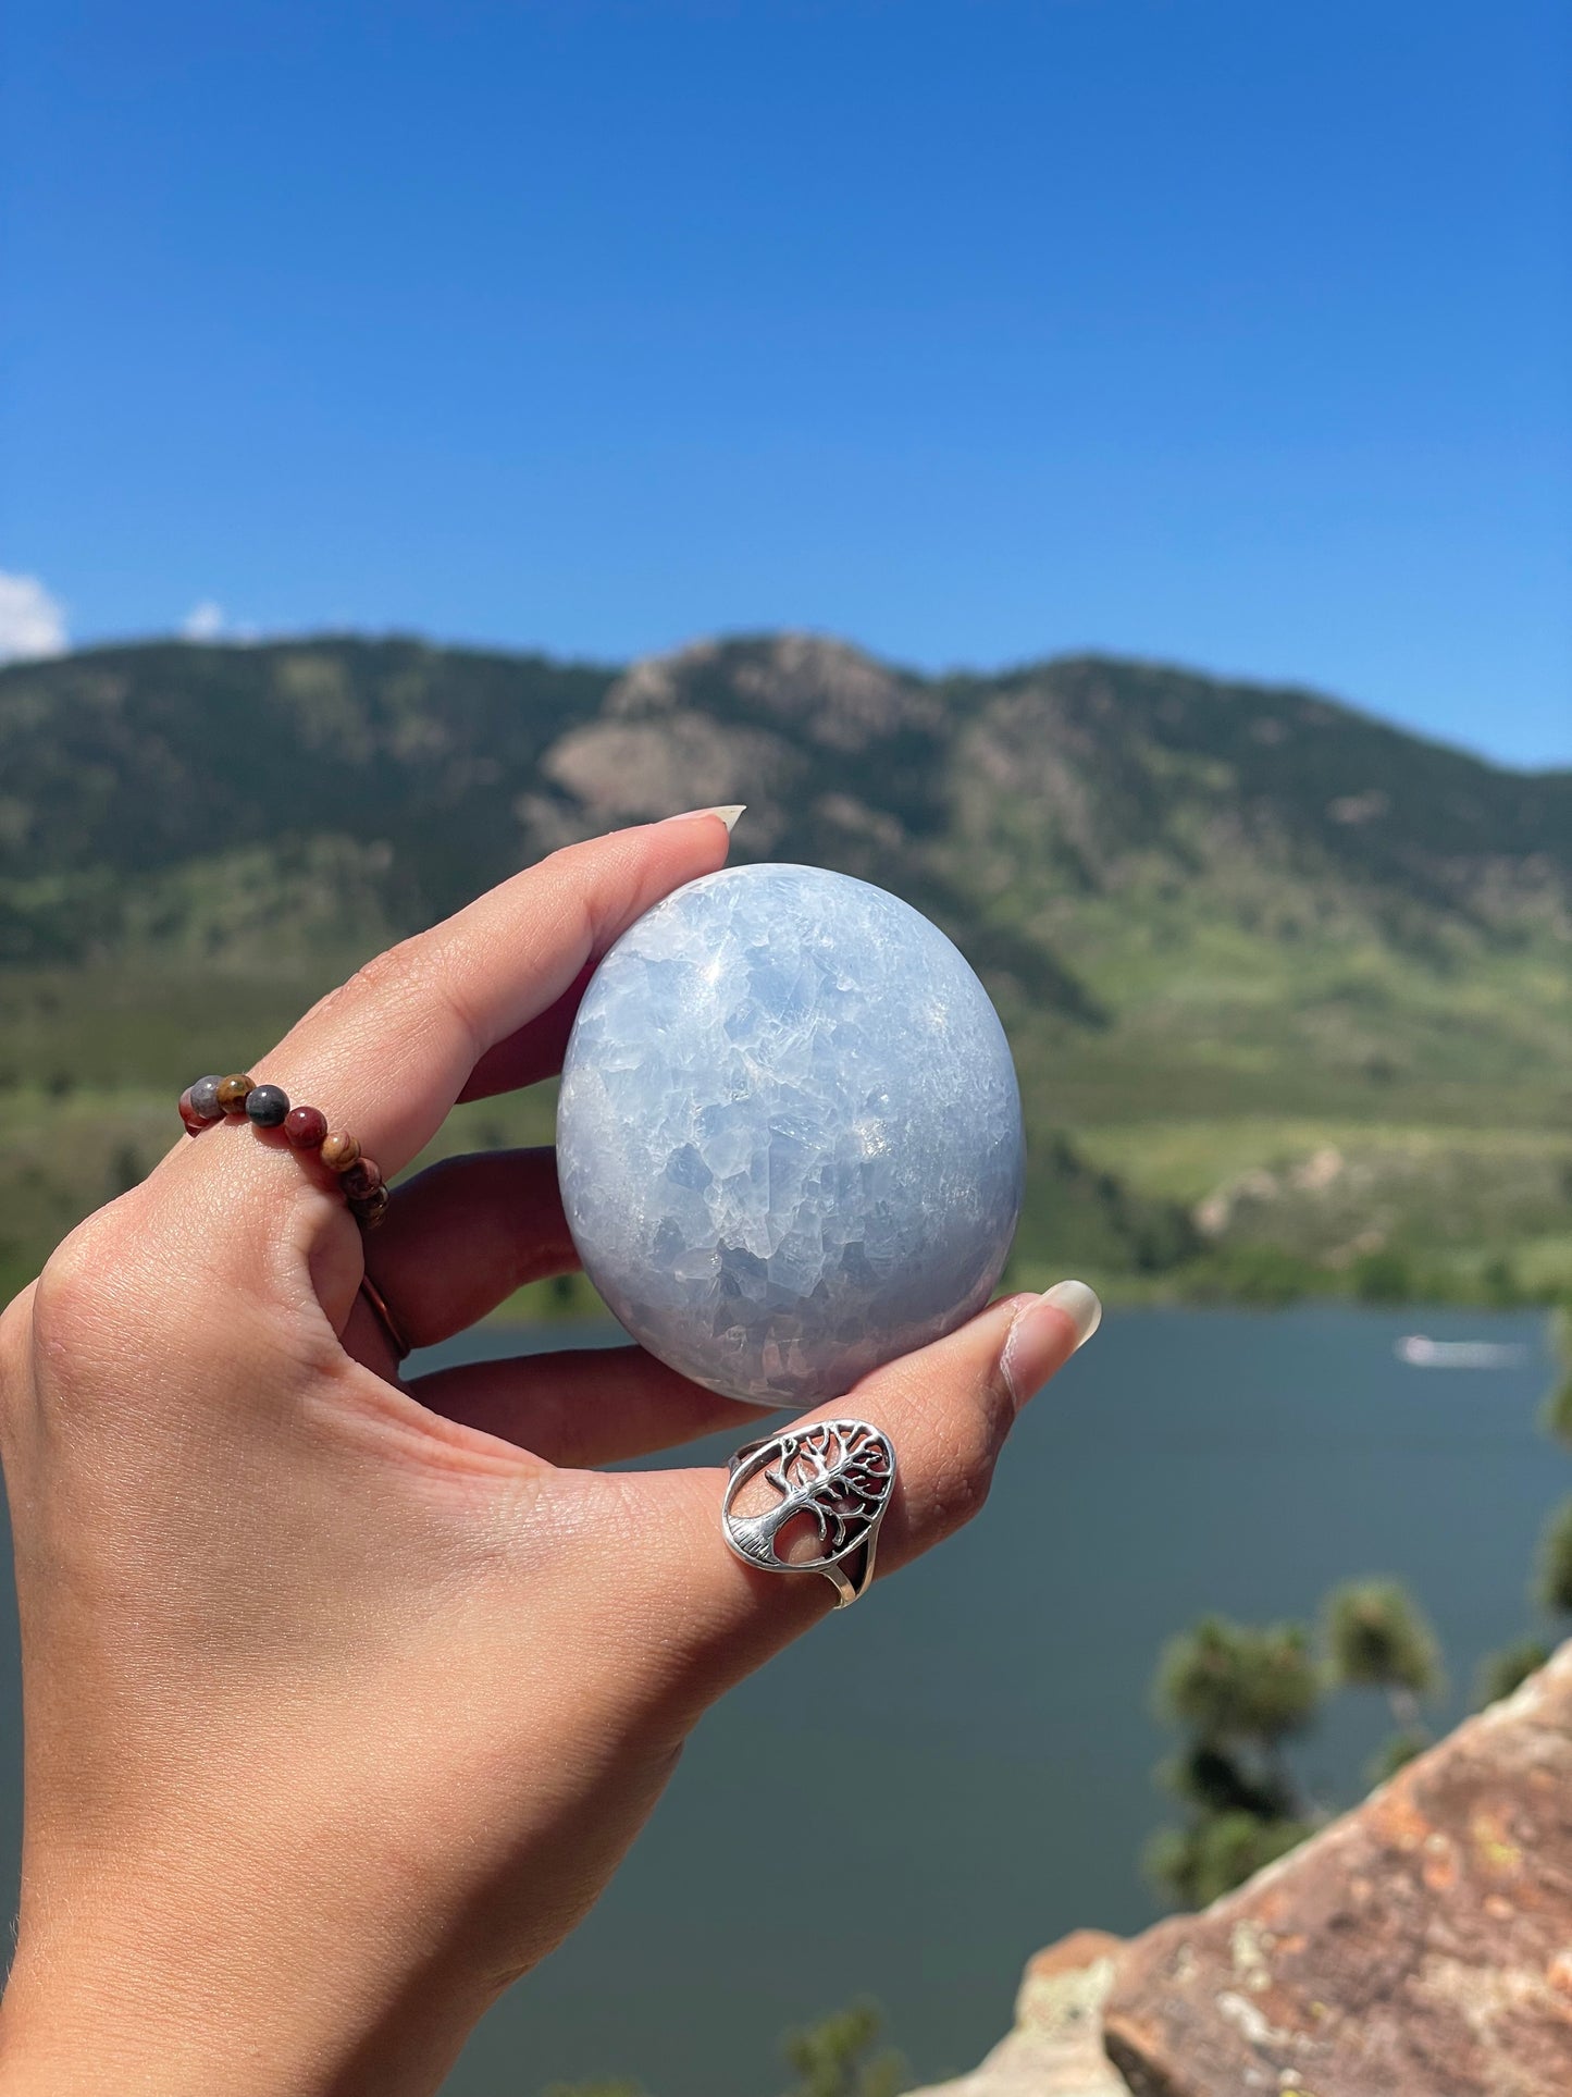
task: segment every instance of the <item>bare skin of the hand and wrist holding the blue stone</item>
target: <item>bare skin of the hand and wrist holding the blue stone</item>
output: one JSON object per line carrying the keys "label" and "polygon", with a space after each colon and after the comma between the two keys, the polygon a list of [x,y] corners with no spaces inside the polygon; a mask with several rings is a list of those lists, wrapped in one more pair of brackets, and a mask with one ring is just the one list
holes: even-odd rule
{"label": "bare skin of the hand and wrist holding the blue stone", "polygon": [[[725,849],[704,812],[560,851],[381,954],[256,1076],[392,1176],[459,1097],[549,1076],[595,958]],[[363,1246],[277,1130],[214,1124],[0,1321],[25,1713],[4,2093],[434,2091],[704,1707],[834,1602],[727,1552],[723,1472],[595,1468],[771,1415],[637,1348],[402,1386],[363,1260],[413,1344],[470,1325],[574,1264],[551,1153],[440,1164]],[[822,1409],[895,1441],[880,1573],[977,1512],[1086,1327],[1073,1298],[1010,1298]]]}

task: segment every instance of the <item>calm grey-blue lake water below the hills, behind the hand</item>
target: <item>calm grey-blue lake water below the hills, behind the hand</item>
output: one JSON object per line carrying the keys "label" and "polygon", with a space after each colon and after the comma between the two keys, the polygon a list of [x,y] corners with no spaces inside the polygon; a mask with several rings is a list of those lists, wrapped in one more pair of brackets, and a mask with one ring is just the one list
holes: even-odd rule
{"label": "calm grey-blue lake water below the hills, behind the hand", "polygon": [[[1522,1359],[1413,1367],[1409,1332]],[[493,1327],[419,1365],[543,1338],[604,1334]],[[1165,1814],[1147,1694],[1172,1631],[1207,1608],[1308,1617],[1333,1581],[1394,1573],[1446,1648],[1438,1724],[1467,1709],[1480,1657],[1532,1623],[1534,1541],[1572,1493],[1534,1428],[1549,1374],[1532,1313],[1111,1313],[1023,1415],[973,1529],[711,1713],[606,1900],[482,2024],[446,2097],[595,2076],[776,2097],[778,2034],[857,1994],[922,2078],[975,2066],[1038,1946],[1157,1915],[1138,1852]],[[1344,1699],[1300,1766],[1346,1799],[1388,1730],[1377,1699]],[[6,1900],[19,1803],[8,1613]],[[790,1835],[773,1864],[765,1826]]]}

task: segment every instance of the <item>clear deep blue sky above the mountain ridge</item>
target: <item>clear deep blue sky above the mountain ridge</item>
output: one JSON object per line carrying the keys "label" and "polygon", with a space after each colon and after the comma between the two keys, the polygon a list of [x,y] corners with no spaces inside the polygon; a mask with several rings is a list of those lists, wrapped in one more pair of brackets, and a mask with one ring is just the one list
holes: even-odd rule
{"label": "clear deep blue sky above the mountain ridge", "polygon": [[4,38],[0,629],[1096,646],[1572,759],[1551,0]]}

